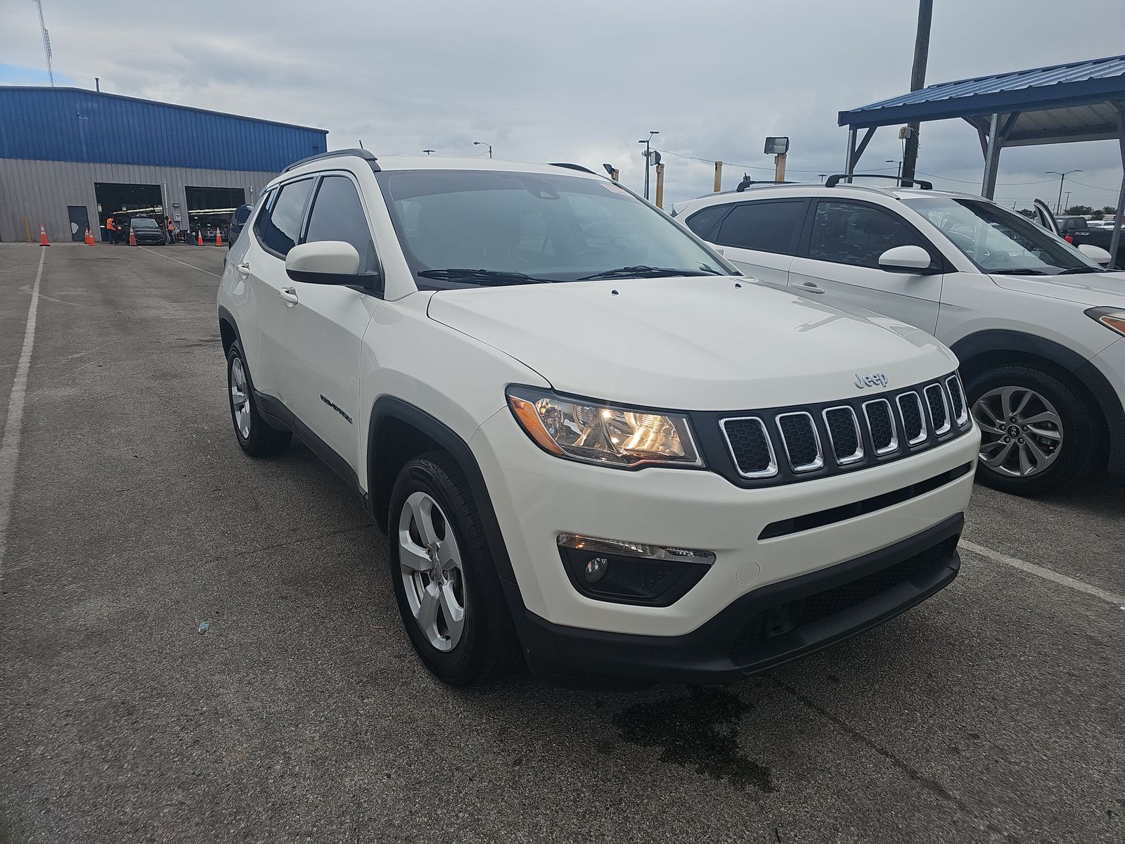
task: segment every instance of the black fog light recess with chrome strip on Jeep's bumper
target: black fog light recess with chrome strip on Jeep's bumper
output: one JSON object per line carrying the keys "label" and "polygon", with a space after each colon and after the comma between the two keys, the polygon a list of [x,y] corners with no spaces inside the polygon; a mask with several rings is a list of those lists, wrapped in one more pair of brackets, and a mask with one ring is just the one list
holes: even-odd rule
{"label": "black fog light recess with chrome strip on Jeep's bumper", "polygon": [[578,592],[600,601],[667,607],[700,582],[714,553],[559,533],[559,556]]}

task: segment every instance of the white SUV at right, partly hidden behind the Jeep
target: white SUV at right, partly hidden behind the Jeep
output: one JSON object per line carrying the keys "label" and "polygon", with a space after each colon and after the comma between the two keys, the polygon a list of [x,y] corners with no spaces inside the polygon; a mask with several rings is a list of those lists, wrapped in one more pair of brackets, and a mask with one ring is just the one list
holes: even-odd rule
{"label": "white SUV at right, partly hidden behind the Jeep", "polygon": [[845,178],[714,194],[676,216],[747,276],[951,347],[983,483],[1032,495],[1125,472],[1125,272],[979,196]]}

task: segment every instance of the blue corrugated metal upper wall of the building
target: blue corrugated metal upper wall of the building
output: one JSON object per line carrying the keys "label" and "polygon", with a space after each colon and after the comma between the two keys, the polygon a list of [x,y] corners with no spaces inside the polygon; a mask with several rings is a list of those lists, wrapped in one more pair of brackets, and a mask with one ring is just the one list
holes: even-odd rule
{"label": "blue corrugated metal upper wall of the building", "polygon": [[0,159],[279,172],[327,132],[79,88],[0,86]]}

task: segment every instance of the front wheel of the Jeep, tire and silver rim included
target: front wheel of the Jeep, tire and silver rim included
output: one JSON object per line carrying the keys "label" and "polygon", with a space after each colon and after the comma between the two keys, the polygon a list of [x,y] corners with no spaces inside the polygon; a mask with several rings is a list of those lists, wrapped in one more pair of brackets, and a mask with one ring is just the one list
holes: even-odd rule
{"label": "front wheel of the Jeep, tire and silver rim included", "polygon": [[403,467],[387,536],[398,611],[423,664],[450,685],[511,673],[520,654],[515,629],[468,482],[448,452]]}

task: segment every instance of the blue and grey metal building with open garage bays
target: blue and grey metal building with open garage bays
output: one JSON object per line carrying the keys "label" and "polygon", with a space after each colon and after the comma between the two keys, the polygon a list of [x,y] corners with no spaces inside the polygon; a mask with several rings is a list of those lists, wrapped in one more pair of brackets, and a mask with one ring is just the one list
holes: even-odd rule
{"label": "blue and grey metal building with open garage bays", "polygon": [[219,225],[325,129],[79,88],[0,87],[0,240],[82,240],[108,216]]}

